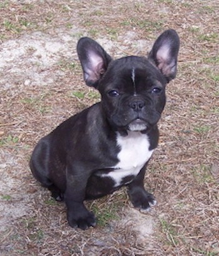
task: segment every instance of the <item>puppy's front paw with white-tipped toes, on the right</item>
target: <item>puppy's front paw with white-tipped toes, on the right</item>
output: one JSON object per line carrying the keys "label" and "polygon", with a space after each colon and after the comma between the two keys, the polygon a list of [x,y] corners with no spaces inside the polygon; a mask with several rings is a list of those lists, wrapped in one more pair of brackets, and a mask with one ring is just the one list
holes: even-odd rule
{"label": "puppy's front paw with white-tipped toes, on the right", "polygon": [[139,208],[141,211],[150,210],[151,206],[156,205],[156,200],[151,193],[145,191],[142,188],[135,188],[129,191],[131,203],[135,208]]}

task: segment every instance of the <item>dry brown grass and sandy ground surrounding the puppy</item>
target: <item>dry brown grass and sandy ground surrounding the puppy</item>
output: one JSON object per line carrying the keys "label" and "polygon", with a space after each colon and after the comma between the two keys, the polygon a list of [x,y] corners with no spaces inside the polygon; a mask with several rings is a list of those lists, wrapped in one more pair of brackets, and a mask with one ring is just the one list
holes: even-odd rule
{"label": "dry brown grass and sandy ground surrounding the puppy", "polygon": [[[216,255],[216,2],[1,1],[0,24],[0,254]],[[154,221],[153,233],[140,237],[141,229],[133,228],[131,220],[138,215],[130,208],[125,189],[88,203],[99,217],[98,227],[73,230],[66,222],[64,205],[51,201],[48,191],[29,173],[28,159],[40,137],[98,100],[84,86],[76,41],[88,35],[109,48],[111,55],[144,54],[166,28],[178,31],[181,49],[178,77],[168,85],[160,146],[145,179],[158,200],[145,216]],[[58,42],[66,50],[48,51],[43,59],[34,56],[34,47],[27,46],[19,58],[12,56],[10,61],[8,57],[4,63],[5,49],[13,55],[16,47],[31,40],[41,42],[42,47],[48,41]],[[53,61],[45,64],[47,59]],[[130,214],[132,218],[127,219]]]}

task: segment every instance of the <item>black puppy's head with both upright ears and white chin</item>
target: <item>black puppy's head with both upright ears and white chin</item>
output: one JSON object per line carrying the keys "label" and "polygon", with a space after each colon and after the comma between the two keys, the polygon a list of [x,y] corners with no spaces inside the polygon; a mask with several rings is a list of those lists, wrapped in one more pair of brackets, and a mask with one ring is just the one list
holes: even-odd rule
{"label": "black puppy's head with both upright ears and white chin", "polygon": [[158,37],[148,58],[113,60],[96,41],[78,41],[84,80],[101,93],[101,105],[114,129],[146,132],[158,122],[165,107],[166,83],[176,76],[179,47],[173,29]]}

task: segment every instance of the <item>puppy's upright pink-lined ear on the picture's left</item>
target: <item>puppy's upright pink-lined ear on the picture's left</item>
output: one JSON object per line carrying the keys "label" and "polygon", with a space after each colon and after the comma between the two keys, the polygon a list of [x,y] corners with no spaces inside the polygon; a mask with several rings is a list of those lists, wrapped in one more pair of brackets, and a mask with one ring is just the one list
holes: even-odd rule
{"label": "puppy's upright pink-lined ear on the picture's left", "polygon": [[106,72],[111,56],[96,41],[87,37],[78,41],[77,51],[86,85],[98,87],[99,78]]}

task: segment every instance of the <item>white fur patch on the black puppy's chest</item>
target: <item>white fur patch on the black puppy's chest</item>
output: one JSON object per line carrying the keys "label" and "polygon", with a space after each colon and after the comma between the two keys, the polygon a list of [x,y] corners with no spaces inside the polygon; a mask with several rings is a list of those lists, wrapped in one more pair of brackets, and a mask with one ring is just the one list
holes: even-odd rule
{"label": "white fur patch on the black puppy's chest", "polygon": [[113,179],[115,187],[120,186],[126,176],[138,175],[153,153],[153,150],[149,150],[148,136],[141,132],[129,131],[125,137],[118,134],[117,144],[121,148],[118,154],[119,163],[112,166],[113,171],[103,175]]}

